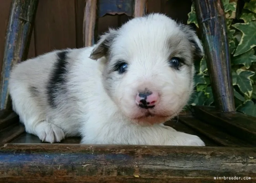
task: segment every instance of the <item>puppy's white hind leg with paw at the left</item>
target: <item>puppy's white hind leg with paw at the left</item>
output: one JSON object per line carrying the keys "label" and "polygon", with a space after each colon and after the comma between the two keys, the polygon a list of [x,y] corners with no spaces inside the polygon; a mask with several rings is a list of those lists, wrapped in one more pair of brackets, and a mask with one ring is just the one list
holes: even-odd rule
{"label": "puppy's white hind leg with paw at the left", "polygon": [[[21,86],[21,87],[19,87]],[[20,120],[25,125],[25,130],[45,142],[60,142],[65,134],[55,124],[50,123],[40,102],[39,91],[35,87],[24,87],[16,83],[10,87],[13,109],[18,113]]]}

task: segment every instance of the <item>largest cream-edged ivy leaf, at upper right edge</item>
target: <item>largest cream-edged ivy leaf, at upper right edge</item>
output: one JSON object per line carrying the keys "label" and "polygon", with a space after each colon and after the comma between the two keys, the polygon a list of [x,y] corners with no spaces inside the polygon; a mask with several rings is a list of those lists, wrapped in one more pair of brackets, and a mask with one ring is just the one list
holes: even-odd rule
{"label": "largest cream-edged ivy leaf, at upper right edge", "polygon": [[243,54],[256,46],[256,22],[237,23],[232,26],[243,33],[234,56]]}

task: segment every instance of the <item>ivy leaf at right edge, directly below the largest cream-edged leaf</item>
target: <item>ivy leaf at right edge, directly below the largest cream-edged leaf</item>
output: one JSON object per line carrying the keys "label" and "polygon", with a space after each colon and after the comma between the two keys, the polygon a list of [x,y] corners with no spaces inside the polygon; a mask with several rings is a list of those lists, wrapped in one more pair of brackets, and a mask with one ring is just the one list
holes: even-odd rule
{"label": "ivy leaf at right edge, directly below the largest cream-edged leaf", "polygon": [[251,64],[256,61],[256,55],[254,55],[254,50],[250,50],[242,55],[238,55],[234,57],[232,63],[234,65],[242,64],[245,66],[246,69],[249,69]]}

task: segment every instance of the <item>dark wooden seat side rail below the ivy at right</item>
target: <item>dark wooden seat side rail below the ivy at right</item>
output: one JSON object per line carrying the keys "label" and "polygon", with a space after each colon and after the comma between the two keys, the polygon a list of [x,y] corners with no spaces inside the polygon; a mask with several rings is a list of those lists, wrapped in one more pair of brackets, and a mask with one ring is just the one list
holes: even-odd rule
{"label": "dark wooden seat side rail below the ivy at right", "polygon": [[219,112],[211,106],[193,106],[196,118],[256,145],[256,118],[240,112]]}

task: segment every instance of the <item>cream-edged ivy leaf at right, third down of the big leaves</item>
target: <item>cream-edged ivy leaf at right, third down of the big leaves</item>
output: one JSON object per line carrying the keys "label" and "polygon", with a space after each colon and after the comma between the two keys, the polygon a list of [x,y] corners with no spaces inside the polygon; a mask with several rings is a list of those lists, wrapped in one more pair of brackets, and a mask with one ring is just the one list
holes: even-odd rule
{"label": "cream-edged ivy leaf at right, third down of the big leaves", "polygon": [[251,97],[252,83],[250,77],[255,73],[252,71],[246,71],[239,68],[236,72],[232,73],[233,85],[237,85],[246,96]]}

